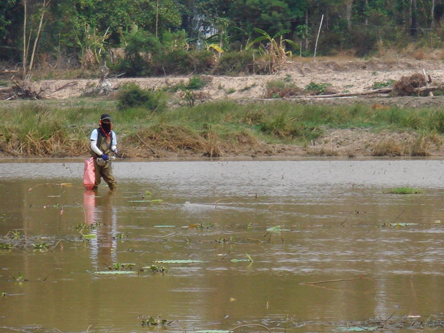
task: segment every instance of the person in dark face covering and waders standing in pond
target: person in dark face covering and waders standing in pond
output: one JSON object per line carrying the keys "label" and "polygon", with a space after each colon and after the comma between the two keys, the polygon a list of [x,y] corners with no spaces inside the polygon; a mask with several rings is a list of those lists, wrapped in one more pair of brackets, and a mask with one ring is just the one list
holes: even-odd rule
{"label": "person in dark face covering and waders standing in pond", "polygon": [[100,116],[99,128],[91,132],[91,156],[94,157],[94,170],[96,180],[93,190],[100,184],[101,178],[108,184],[111,191],[117,187],[117,182],[112,175],[110,157],[117,153],[117,138],[111,129],[111,116]]}

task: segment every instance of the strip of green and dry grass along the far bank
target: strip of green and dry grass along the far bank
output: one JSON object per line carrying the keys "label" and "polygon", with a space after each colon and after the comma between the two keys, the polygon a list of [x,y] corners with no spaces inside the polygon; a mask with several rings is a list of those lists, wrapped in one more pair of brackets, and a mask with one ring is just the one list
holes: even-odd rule
{"label": "strip of green and dry grass along the far bank", "polygon": [[82,99],[72,107],[42,103],[0,105],[2,156],[65,157],[88,152],[89,135],[104,112],[113,116],[123,157],[174,154],[219,157],[254,154],[260,145],[307,147],[332,129],[414,132],[417,140],[396,147],[379,140],[377,156],[425,156],[442,144],[444,111],[432,108],[376,110],[368,105],[303,105],[288,101],[238,104],[213,102],[175,108],[128,106],[118,101]]}

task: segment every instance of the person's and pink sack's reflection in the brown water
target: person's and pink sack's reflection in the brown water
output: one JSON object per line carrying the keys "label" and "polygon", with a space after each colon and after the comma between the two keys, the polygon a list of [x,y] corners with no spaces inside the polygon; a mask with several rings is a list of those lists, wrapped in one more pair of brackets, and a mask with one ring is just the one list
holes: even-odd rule
{"label": "person's and pink sack's reflection in the brown water", "polygon": [[83,192],[86,227],[84,233],[95,234],[89,239],[91,259],[96,270],[103,270],[116,262],[117,209],[113,206],[115,193],[96,196],[94,191]]}

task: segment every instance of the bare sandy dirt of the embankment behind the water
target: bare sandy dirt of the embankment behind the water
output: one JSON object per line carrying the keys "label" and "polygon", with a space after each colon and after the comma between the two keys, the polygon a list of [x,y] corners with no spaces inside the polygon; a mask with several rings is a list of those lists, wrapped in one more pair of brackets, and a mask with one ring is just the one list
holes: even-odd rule
{"label": "bare sandy dirt of the embankment behind the water", "polygon": [[[397,81],[402,76],[422,73],[430,75],[433,82],[444,82],[444,62],[441,60],[342,60],[342,61],[309,61],[286,64],[275,75],[249,76],[215,76],[205,75],[208,83],[196,93],[195,103],[205,103],[212,100],[231,99],[239,103],[258,101],[264,103],[264,93],[267,82],[282,79],[292,81],[299,88],[309,83],[327,83],[335,92],[363,92],[372,89],[376,82]],[[142,88],[158,89],[173,86],[181,81],[187,82],[189,76],[165,76],[146,78],[116,78],[111,79],[111,88],[118,89],[125,83],[134,82]],[[88,90],[97,87],[99,80],[41,80],[34,82],[34,89],[42,91],[42,96],[50,99],[66,99],[82,96]],[[174,96],[175,104],[187,104],[184,93],[178,91]],[[398,107],[436,107],[442,109],[444,96],[435,97],[346,97],[329,99],[311,99],[309,97],[291,99],[294,103],[322,103],[330,105],[341,104],[377,104],[381,106]],[[365,129],[326,131],[323,138],[313,141],[308,147],[268,145],[257,143],[246,144],[244,148],[237,147],[221,151],[222,156],[444,156],[443,136],[433,140],[424,140],[416,133],[380,133],[374,134]],[[174,152],[158,157],[186,157],[199,153]]]}

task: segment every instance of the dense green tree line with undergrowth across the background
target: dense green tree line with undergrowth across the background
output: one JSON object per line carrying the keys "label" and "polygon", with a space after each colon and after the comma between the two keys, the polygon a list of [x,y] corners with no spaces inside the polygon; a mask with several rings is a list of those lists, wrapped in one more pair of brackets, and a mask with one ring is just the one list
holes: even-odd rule
{"label": "dense green tree line with undergrowth across the background", "polygon": [[1,0],[0,60],[25,73],[105,60],[127,75],[259,73],[255,53],[283,50],[283,37],[285,51],[310,56],[319,28],[319,55],[440,47],[443,15],[441,0]]}

